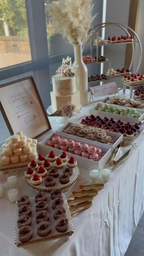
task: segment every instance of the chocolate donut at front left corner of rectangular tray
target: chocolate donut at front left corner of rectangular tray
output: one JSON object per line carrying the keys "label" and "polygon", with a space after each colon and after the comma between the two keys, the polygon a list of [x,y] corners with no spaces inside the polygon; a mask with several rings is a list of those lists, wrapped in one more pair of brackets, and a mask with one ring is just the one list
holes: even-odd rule
{"label": "chocolate donut at front left corner of rectangular tray", "polygon": [[18,240],[21,242],[27,242],[32,237],[32,228],[30,226],[21,227],[18,231]]}

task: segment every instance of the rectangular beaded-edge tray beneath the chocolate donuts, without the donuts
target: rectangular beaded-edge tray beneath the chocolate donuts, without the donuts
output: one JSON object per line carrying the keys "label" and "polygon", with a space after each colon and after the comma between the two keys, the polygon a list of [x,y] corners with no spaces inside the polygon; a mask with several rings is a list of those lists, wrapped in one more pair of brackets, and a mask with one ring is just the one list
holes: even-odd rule
{"label": "rectangular beaded-edge tray beneath the chocolate donuts, without the donuts", "polygon": [[59,239],[59,238],[63,238],[63,236],[71,236],[74,233],[74,226],[73,226],[73,221],[71,218],[71,213],[68,207],[68,203],[67,203],[67,199],[65,197],[65,195],[62,193],[62,199],[63,199],[63,205],[62,207],[65,208],[66,211],[66,218],[68,219],[68,230],[66,232],[58,232],[55,229],[55,225],[56,225],[56,220],[53,217],[53,212],[54,210],[51,207],[52,204],[52,199],[50,194],[47,194],[48,196],[48,212],[49,212],[49,222],[51,223],[51,232],[49,233],[48,236],[42,237],[39,236],[37,234],[37,222],[35,221],[35,216],[36,216],[36,211],[35,211],[35,198],[34,197],[30,197],[30,202],[31,202],[31,210],[32,210],[32,214],[31,214],[31,227],[32,227],[32,231],[33,231],[33,235],[31,240],[22,243],[21,241],[18,240],[18,227],[17,227],[17,220],[18,220],[18,206],[17,204],[15,204],[15,244],[18,247],[21,246],[25,246],[27,244],[35,244],[35,243],[40,243],[42,241],[48,241],[48,240],[54,240],[54,239]]}

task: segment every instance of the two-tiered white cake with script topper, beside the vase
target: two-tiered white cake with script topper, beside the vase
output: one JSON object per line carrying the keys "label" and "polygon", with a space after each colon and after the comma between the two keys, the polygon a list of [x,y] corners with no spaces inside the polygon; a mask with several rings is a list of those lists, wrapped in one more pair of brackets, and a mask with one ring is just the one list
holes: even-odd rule
{"label": "two-tiered white cake with script topper, beside the vase", "polygon": [[[64,59],[63,59],[64,60]],[[62,65],[52,76],[51,105],[52,110],[57,111],[62,104],[72,103],[79,108],[79,91],[76,89],[75,76],[71,71],[71,58],[67,57]]]}

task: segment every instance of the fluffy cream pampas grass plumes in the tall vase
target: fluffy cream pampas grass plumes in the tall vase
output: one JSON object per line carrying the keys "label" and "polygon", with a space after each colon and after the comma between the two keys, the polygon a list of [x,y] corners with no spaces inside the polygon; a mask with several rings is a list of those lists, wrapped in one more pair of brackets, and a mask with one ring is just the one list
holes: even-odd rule
{"label": "fluffy cream pampas grass plumes in the tall vase", "polygon": [[48,6],[56,31],[67,37],[72,45],[82,45],[95,16],[92,16],[92,0],[59,0]]}

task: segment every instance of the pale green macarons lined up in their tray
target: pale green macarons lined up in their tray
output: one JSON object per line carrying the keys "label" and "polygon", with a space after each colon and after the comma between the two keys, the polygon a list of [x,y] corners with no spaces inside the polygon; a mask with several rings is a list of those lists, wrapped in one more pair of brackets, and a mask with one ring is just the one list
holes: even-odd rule
{"label": "pale green macarons lined up in their tray", "polygon": [[137,111],[134,108],[121,108],[120,106],[115,106],[109,103],[103,103],[101,107],[98,108],[99,111],[113,113],[117,115],[126,115],[128,117],[135,117],[138,118],[141,117],[142,113]]}

